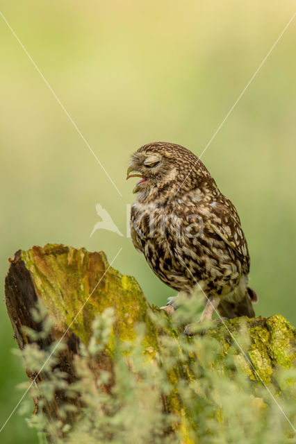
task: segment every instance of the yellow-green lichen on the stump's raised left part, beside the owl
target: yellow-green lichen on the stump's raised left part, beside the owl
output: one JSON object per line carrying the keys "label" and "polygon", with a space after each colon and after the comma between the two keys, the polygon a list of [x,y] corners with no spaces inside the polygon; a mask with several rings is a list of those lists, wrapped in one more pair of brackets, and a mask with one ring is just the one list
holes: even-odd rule
{"label": "yellow-green lichen on the stump's raised left part, beside the owl", "polygon": [[149,305],[138,282],[109,266],[103,252],[47,244],[44,248],[34,246],[22,251],[21,257],[56,330],[63,331],[71,325],[71,330],[86,344],[95,316],[113,307],[116,337],[133,341],[134,325],[145,321],[149,343],[156,345],[155,332],[153,335],[146,316]]}

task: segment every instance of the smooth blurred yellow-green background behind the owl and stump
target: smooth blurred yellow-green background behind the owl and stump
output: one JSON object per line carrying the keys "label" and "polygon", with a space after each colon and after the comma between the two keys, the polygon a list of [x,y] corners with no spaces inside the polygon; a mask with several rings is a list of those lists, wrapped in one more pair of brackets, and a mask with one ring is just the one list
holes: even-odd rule
{"label": "smooth blurred yellow-green background behind the owl and stump", "polygon": [[[165,140],[202,153],[293,16],[293,1],[1,1],[1,12],[113,178],[110,183],[0,17],[1,289],[8,257],[47,242],[104,250],[150,302],[174,295],[131,240],[103,230],[100,203],[126,233],[129,156]],[[256,313],[296,321],[296,19],[202,160],[238,208]],[[0,307],[0,427],[26,379]],[[16,412],[1,443],[35,443]]]}

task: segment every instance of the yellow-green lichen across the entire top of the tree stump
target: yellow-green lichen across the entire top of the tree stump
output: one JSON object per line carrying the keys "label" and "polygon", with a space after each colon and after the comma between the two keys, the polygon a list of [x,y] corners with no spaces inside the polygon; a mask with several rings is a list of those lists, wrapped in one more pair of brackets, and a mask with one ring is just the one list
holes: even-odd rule
{"label": "yellow-green lichen across the entire top of the tree stump", "polygon": [[[142,348],[147,363],[157,362],[158,366],[163,366],[167,357],[174,357],[174,364],[166,369],[172,390],[163,397],[163,402],[166,411],[179,418],[176,429],[181,431],[183,443],[195,442],[191,440],[189,431],[197,424],[179,393],[180,381],[198,386],[197,374],[202,379],[203,372],[210,368],[221,376],[230,377],[233,372],[242,370],[257,385],[262,382],[270,384],[276,368],[293,366],[296,357],[295,329],[281,315],[252,319],[241,317],[214,324],[203,339],[204,343],[208,341],[211,344],[213,356],[206,357],[204,361],[196,341],[197,347],[184,358],[184,345],[186,348],[186,343],[194,344],[194,340],[183,336],[183,328],[174,323],[174,316],[170,318],[158,307],[151,307],[135,278],[121,275],[109,266],[103,252],[90,253],[85,248],[47,244],[44,248],[34,246],[31,250],[20,252],[13,259],[12,266],[19,260],[24,262],[37,297],[54,321],[55,339],[69,327],[78,341],[88,345],[92,321],[97,314],[113,307],[113,332],[104,350],[110,359],[118,342],[136,342],[140,323],[145,325]],[[13,293],[13,285],[8,286],[8,293]],[[169,349],[165,348],[165,338],[169,339]],[[227,366],[230,356],[236,368]],[[110,366],[107,367],[110,370]],[[196,407],[197,412],[203,408],[203,402]],[[215,416],[222,421],[219,412],[217,409]]]}

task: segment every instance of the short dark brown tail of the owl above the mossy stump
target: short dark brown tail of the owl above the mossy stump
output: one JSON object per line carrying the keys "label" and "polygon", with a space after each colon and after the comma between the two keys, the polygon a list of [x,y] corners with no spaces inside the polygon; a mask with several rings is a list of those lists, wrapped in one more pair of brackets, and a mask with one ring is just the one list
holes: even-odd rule
{"label": "short dark brown tail of the owl above the mossy stump", "polygon": [[247,287],[245,297],[240,302],[229,302],[222,300],[218,307],[221,316],[229,319],[237,318],[238,316],[247,316],[248,318],[255,317],[253,304],[258,301],[256,291]]}

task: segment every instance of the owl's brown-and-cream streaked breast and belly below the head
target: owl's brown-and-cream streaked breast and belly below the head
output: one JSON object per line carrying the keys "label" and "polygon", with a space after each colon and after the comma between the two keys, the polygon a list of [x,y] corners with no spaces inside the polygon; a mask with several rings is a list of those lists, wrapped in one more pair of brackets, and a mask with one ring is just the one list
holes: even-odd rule
{"label": "owl's brown-and-cream streaked breast and belly below the head", "polygon": [[208,294],[230,291],[240,280],[240,261],[208,226],[203,205],[195,214],[179,211],[179,205],[136,201],[131,210],[135,248],[158,278],[178,291],[190,292],[197,282]]}

